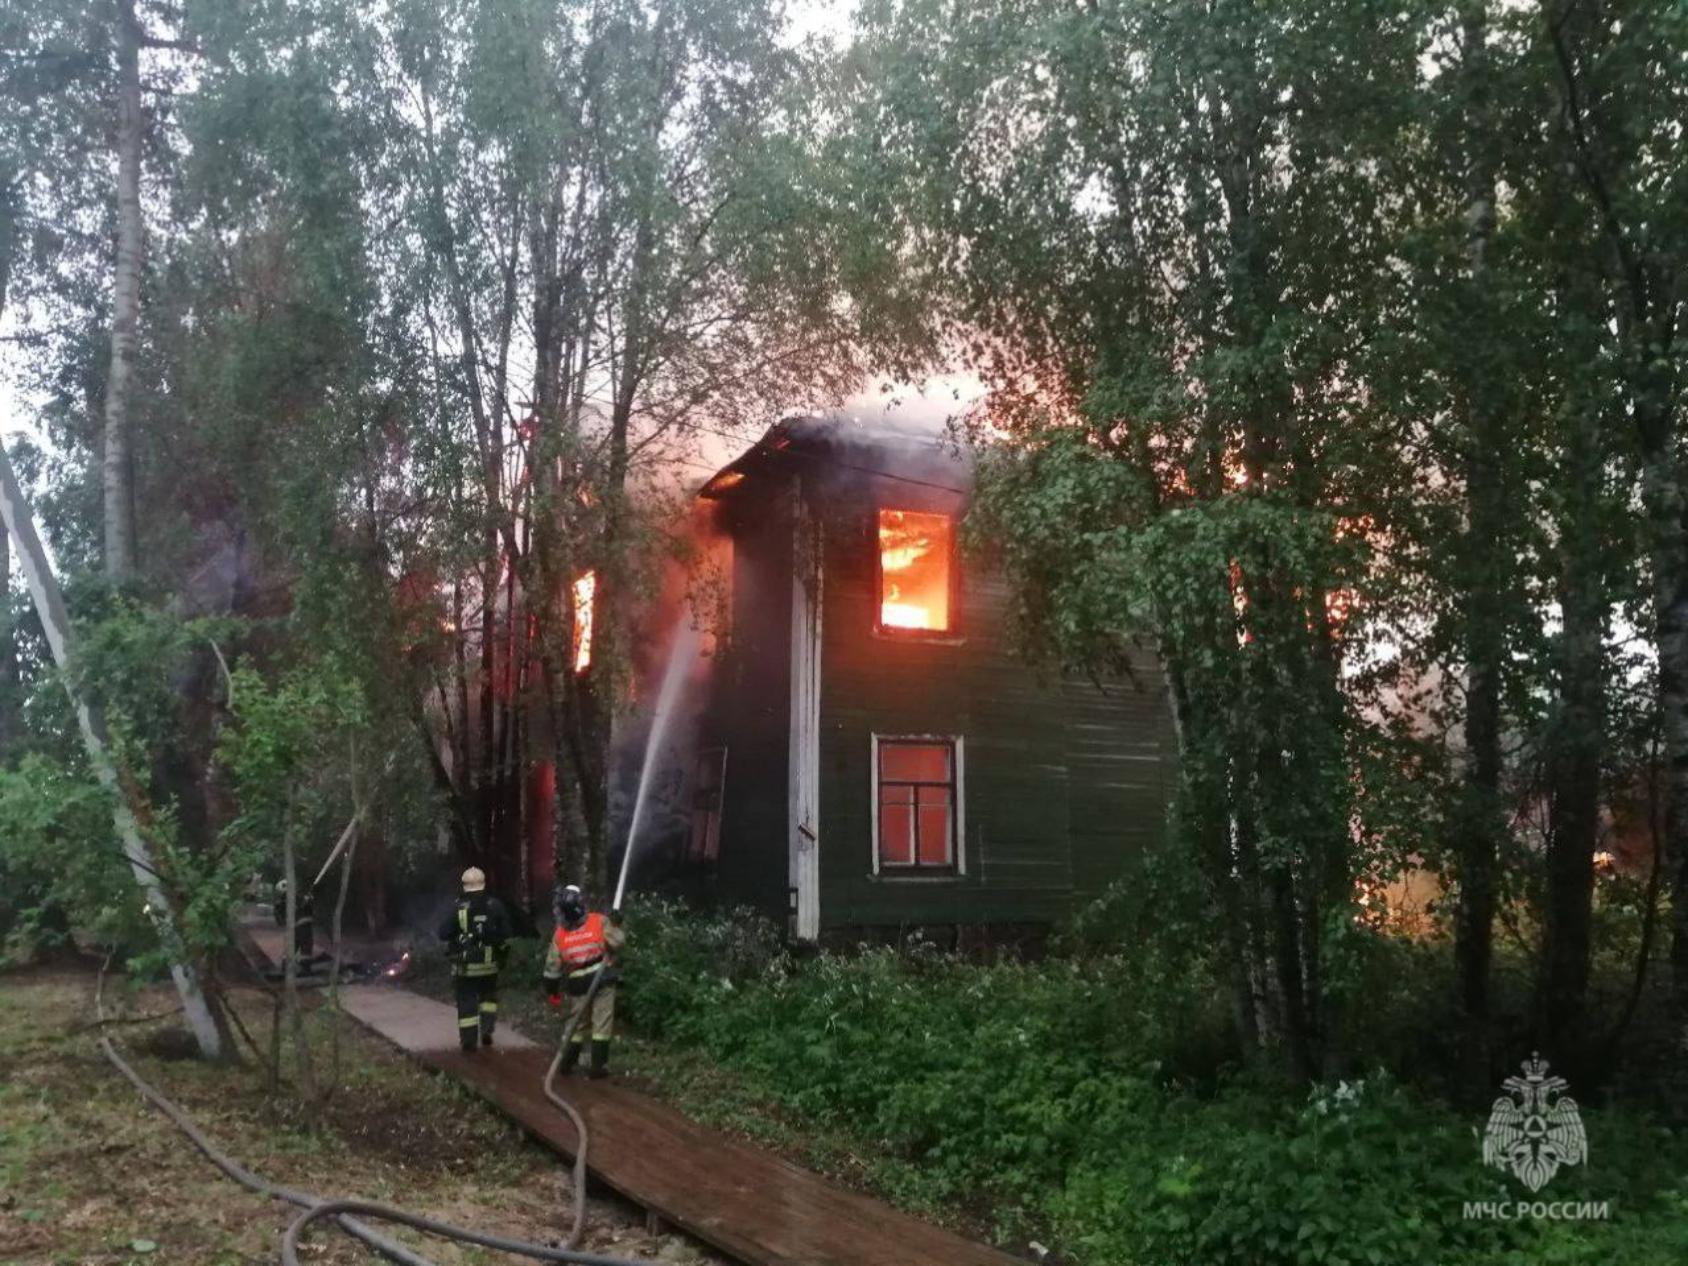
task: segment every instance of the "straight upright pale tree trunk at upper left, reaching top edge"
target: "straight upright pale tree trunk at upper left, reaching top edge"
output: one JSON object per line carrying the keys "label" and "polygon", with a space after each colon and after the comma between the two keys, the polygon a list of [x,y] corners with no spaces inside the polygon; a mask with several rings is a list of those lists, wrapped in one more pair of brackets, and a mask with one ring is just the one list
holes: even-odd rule
{"label": "straight upright pale tree trunk at upper left, reaching top edge", "polygon": [[116,272],[111,279],[111,370],[105,398],[105,572],[122,584],[135,574],[135,463],[130,397],[140,324],[140,24],[135,0],[118,0],[116,22]]}

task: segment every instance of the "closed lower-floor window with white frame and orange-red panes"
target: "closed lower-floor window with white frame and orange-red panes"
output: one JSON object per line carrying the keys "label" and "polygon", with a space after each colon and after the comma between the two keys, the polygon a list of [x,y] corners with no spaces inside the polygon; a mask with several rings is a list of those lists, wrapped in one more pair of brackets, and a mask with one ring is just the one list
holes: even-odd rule
{"label": "closed lower-floor window with white frame and orange-red panes", "polygon": [[876,738],[876,869],[954,871],[960,746],[955,739]]}

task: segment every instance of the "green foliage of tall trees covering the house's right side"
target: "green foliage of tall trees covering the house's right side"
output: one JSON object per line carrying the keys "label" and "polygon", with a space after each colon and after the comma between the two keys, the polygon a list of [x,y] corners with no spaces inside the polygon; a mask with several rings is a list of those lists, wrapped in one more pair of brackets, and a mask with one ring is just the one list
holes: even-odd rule
{"label": "green foliage of tall trees covering the house's right side", "polygon": [[[1685,557],[1680,10],[859,10],[837,149],[898,277],[858,300],[917,279],[912,336],[989,388],[969,535],[1026,648],[1158,657],[1209,937],[1303,1075],[1372,967],[1355,881],[1435,869],[1474,999],[1496,852],[1499,905],[1583,945],[1602,810],[1681,709],[1617,636]],[[1541,1014],[1585,957],[1543,955]]]}

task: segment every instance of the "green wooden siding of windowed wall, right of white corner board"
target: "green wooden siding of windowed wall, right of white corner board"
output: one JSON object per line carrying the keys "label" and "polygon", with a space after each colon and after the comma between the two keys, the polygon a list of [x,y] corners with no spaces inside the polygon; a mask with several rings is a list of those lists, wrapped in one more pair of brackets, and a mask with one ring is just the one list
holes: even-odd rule
{"label": "green wooden siding of windowed wall, right of white corner board", "polygon": [[[895,505],[895,501],[893,501]],[[959,638],[874,635],[873,508],[827,527],[820,922],[1047,922],[1128,873],[1165,822],[1171,733],[1155,665],[1102,690],[1040,675],[1006,645],[1008,591],[960,560]],[[873,734],[964,739],[955,878],[873,874]]]}

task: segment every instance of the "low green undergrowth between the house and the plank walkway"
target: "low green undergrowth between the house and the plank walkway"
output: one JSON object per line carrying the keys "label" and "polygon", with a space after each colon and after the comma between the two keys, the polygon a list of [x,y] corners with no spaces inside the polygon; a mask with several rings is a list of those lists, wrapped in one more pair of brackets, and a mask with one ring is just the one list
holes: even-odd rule
{"label": "low green undergrowth between the house and the plank walkway", "polygon": [[[1609,1200],[1610,1222],[1502,1222],[1463,1215],[1528,1198],[1482,1166],[1482,1116],[1388,1072],[1195,1087],[1177,1043],[1224,1021],[1204,1014],[1209,982],[1161,960],[798,960],[751,917],[657,903],[631,905],[628,930],[643,1031],[851,1139],[900,1204],[989,1209],[1003,1236],[1085,1266],[1663,1266],[1688,1239],[1688,1136],[1634,1112],[1585,1106],[1592,1160],[1543,1192]],[[1401,967],[1379,962],[1374,998],[1416,989]]]}

